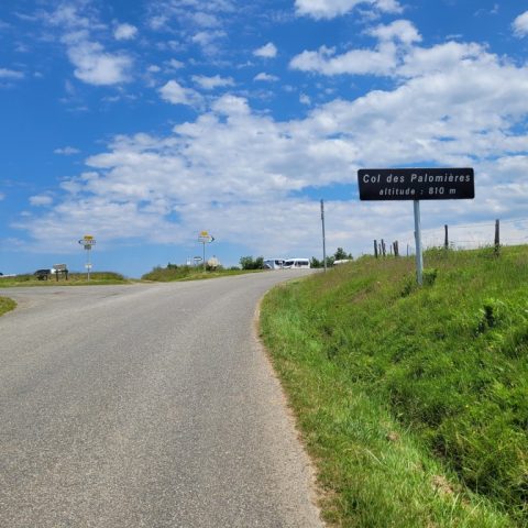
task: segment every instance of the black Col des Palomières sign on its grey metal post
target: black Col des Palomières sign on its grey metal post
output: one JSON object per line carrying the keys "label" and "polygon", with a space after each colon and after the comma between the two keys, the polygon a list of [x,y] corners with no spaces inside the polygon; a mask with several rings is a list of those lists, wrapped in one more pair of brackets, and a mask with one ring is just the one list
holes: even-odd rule
{"label": "black Col des Palomi\u00e8res sign on its grey metal post", "polygon": [[415,212],[416,278],[422,284],[420,200],[473,199],[473,168],[361,168],[360,200],[413,200]]}

